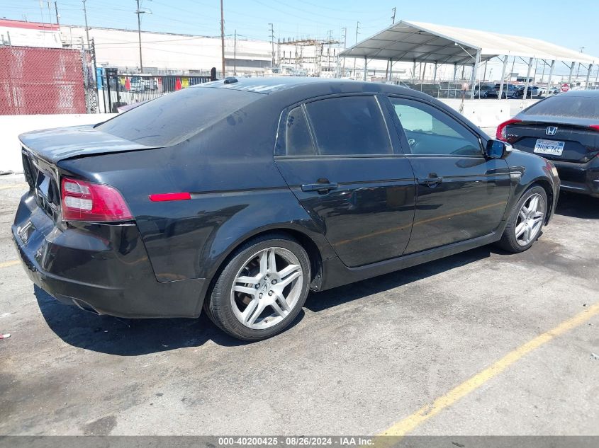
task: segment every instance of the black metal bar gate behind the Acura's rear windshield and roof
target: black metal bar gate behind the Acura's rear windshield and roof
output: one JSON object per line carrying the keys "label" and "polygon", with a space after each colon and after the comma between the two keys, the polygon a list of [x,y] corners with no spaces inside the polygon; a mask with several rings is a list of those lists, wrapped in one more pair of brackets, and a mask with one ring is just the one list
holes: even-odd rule
{"label": "black metal bar gate behind the Acura's rear windshield and roof", "polygon": [[142,103],[181,88],[215,81],[214,76],[123,74],[111,68],[99,69],[98,79],[101,79],[98,87],[101,89],[103,111],[112,113],[118,113],[118,108],[125,105]]}

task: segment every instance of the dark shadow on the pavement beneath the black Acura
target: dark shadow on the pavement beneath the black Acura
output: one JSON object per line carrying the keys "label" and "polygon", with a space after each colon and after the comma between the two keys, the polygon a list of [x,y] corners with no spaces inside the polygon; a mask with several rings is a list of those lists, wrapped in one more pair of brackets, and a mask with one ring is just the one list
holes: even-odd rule
{"label": "dark shadow on the pavement beneath the black Acura", "polygon": [[[308,295],[305,307],[322,311],[371,294],[421,280],[461,265],[486,258],[491,246],[476,248],[414,268],[392,272],[344,287]],[[40,311],[48,326],[69,345],[109,355],[137,356],[177,348],[199,347],[212,340],[223,346],[246,343],[220,331],[205,314],[199,318],[123,319],[97,316],[76,306],[61,304],[39,287],[34,287]],[[303,318],[301,311],[296,325]]]}

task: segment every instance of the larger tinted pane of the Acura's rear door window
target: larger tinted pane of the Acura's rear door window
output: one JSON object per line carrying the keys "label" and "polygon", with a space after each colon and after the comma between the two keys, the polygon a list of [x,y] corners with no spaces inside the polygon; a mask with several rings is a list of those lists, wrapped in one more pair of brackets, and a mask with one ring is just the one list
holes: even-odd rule
{"label": "larger tinted pane of the Acura's rear door window", "polygon": [[392,154],[374,96],[346,96],[306,105],[318,153],[323,156]]}

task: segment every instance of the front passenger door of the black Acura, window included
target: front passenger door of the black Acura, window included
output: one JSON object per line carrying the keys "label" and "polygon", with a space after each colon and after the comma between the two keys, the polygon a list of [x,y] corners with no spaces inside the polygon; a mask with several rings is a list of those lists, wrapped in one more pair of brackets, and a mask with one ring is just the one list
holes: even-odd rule
{"label": "front passenger door of the black Acura, window included", "polygon": [[486,159],[481,141],[444,110],[388,98],[416,179],[414,226],[405,253],[485,236],[498,229],[510,195],[503,159]]}

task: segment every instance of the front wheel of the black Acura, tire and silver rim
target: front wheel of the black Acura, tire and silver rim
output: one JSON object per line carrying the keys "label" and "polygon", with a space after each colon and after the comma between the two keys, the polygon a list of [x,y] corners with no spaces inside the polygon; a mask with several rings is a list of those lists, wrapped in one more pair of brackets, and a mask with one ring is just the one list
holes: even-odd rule
{"label": "front wheel of the black Acura, tire and silver rim", "polygon": [[498,246],[512,253],[526,251],[541,236],[546,214],[547,193],[544,188],[529,188],[510,213]]}

